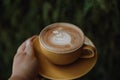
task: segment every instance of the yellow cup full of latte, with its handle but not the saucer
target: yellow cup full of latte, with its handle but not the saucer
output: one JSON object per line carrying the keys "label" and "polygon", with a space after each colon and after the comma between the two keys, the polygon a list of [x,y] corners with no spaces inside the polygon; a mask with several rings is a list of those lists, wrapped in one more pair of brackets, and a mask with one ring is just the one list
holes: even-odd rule
{"label": "yellow cup full of latte, with its handle but not the saucer", "polygon": [[45,27],[33,41],[36,55],[56,65],[68,65],[79,58],[92,58],[95,48],[86,44],[82,30],[69,23],[54,23]]}

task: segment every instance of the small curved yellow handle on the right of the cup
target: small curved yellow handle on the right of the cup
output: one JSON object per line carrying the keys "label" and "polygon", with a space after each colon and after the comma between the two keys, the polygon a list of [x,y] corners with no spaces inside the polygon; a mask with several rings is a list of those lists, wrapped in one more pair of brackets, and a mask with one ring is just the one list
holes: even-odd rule
{"label": "small curved yellow handle on the right of the cup", "polygon": [[81,48],[80,58],[92,58],[95,55],[95,48],[90,45],[83,45]]}

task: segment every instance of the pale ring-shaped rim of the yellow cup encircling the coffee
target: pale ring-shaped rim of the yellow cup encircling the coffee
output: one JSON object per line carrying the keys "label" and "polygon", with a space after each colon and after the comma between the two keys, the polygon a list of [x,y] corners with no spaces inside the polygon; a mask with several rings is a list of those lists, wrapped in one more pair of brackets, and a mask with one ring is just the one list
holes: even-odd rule
{"label": "pale ring-shaped rim of the yellow cup encircling the coffee", "polygon": [[[75,48],[75,49],[73,49],[73,50],[69,50],[69,51],[59,51],[59,52],[50,50],[50,49],[48,49],[47,47],[45,47],[45,44],[44,44],[44,42],[43,42],[43,40],[42,40],[42,38],[41,38],[41,35],[42,35],[42,33],[44,32],[45,29],[51,27],[52,25],[56,25],[56,24],[59,24],[59,25],[68,25],[69,27],[74,27],[76,30],[78,30],[79,33],[80,33],[80,35],[81,35],[81,37],[83,38],[83,39],[81,40],[81,45],[79,45],[79,47],[77,47],[77,48]],[[84,35],[82,29],[79,28],[78,26],[74,25],[74,24],[71,24],[71,23],[65,23],[65,22],[52,23],[52,24],[46,26],[45,28],[43,28],[43,30],[42,30],[42,31],[40,32],[40,34],[39,34],[39,43],[40,43],[40,45],[41,45],[44,49],[46,49],[47,51],[52,52],[52,53],[56,53],[56,54],[59,54],[59,53],[60,53],[60,54],[72,53],[72,52],[78,50],[79,48],[81,48],[82,45],[84,44],[84,42],[85,42],[85,35]]]}

